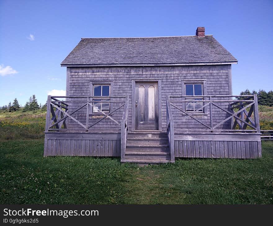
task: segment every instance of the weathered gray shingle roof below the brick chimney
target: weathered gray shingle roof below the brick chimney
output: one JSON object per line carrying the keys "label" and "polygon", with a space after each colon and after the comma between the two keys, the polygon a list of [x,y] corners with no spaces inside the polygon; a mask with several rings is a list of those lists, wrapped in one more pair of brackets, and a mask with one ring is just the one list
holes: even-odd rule
{"label": "weathered gray shingle roof below the brick chimney", "polygon": [[235,63],[212,35],[205,37],[82,38],[66,65]]}

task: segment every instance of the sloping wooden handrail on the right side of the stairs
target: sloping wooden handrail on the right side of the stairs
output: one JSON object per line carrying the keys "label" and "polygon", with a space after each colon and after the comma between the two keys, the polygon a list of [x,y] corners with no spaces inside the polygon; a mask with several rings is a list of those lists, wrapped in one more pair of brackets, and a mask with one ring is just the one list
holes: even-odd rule
{"label": "sloping wooden handrail on the right side of the stairs", "polygon": [[168,134],[168,141],[169,141],[169,148],[170,148],[170,154],[171,154],[171,161],[175,161],[174,156],[174,124],[172,119],[172,111],[171,111],[171,105],[170,105],[170,97],[167,96],[167,102],[166,102],[166,115],[167,115],[167,134]]}

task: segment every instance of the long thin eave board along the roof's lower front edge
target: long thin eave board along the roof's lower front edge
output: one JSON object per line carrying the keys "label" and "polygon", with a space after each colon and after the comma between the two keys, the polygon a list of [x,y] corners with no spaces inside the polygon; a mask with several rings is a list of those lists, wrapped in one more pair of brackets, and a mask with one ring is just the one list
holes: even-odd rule
{"label": "long thin eave board along the roof's lower front edge", "polygon": [[207,62],[207,63],[61,63],[61,67],[111,67],[111,66],[185,66],[185,65],[217,65],[217,64],[237,64],[238,61],[231,62]]}

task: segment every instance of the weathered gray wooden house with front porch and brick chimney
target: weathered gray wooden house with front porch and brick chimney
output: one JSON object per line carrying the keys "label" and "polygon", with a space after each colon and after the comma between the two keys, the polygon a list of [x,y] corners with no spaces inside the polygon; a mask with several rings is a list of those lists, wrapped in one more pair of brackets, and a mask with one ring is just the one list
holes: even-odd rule
{"label": "weathered gray wooden house with front porch and brick chimney", "polygon": [[66,96],[48,96],[44,156],[261,157],[257,96],[232,96],[236,63],[204,27],[192,36],[82,38],[61,63]]}

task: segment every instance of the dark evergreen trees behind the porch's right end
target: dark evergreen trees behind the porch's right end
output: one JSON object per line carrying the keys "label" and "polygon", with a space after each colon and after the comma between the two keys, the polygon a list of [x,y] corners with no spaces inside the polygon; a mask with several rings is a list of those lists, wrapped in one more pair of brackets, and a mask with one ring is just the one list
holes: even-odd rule
{"label": "dark evergreen trees behind the porch's right end", "polygon": [[[253,90],[252,92],[249,89],[246,89],[240,93],[240,95],[254,95],[257,94],[258,105],[273,106],[273,91],[270,90],[266,92],[263,89],[260,89],[259,92]],[[243,99],[240,97],[236,98],[237,100]]]}

